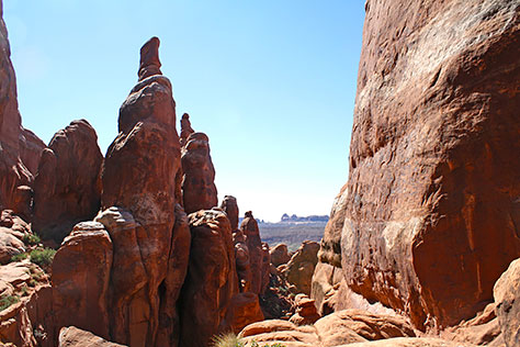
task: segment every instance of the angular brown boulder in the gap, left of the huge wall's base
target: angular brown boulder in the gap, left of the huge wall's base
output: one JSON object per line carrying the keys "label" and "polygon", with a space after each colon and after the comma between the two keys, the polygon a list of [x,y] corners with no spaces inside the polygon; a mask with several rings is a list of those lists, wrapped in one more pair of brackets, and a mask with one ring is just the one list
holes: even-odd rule
{"label": "angular brown boulder in the gap, left of the huge wall's base", "polygon": [[313,273],[318,262],[318,243],[303,242],[282,270],[282,276],[294,286],[295,293],[310,295]]}

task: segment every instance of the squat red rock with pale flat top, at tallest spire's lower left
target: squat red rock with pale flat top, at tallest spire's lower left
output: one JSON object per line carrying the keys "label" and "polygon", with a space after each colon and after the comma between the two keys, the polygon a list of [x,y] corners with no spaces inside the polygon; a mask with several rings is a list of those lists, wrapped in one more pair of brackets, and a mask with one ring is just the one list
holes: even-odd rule
{"label": "squat red rock with pale flat top, at tallest spire's lower left", "polygon": [[64,239],[52,271],[56,326],[81,326],[110,338],[108,300],[112,247],[109,233],[99,222],[79,223]]}

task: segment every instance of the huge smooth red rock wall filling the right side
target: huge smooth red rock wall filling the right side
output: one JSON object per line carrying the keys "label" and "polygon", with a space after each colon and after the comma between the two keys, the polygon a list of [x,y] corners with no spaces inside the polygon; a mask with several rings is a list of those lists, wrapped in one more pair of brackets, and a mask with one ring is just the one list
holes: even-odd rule
{"label": "huge smooth red rock wall filling the right side", "polygon": [[519,3],[365,8],[343,275],[417,327],[453,325],[520,256]]}

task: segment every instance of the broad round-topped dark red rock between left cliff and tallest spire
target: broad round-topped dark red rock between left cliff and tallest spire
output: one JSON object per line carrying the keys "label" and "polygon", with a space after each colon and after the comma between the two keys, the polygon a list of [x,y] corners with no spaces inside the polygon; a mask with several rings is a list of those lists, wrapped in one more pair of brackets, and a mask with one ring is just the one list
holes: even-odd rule
{"label": "broad round-topped dark red rock between left cliff and tallest spire", "polygon": [[75,224],[95,216],[102,161],[98,136],[86,120],[71,122],[50,139],[34,180],[33,228],[44,239],[60,243]]}

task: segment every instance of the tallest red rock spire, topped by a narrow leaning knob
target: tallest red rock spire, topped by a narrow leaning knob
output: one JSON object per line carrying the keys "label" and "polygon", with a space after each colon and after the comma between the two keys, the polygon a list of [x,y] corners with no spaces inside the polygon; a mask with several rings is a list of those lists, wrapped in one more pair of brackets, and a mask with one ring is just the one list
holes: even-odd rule
{"label": "tallest red rock spire, topped by a narrow leaning knob", "polygon": [[[105,247],[91,250],[89,231],[78,230],[58,250],[66,262],[81,265],[75,268],[78,273],[58,266],[60,257],[53,271],[53,278],[77,279],[56,280],[59,302],[76,300],[71,304],[78,306],[75,324],[103,337],[108,328],[110,340],[132,347],[178,345],[177,300],[190,246],[186,215],[176,199],[180,144],[171,85],[163,76],[148,76],[160,72],[157,45],[152,38],[142,49],[140,81],[120,110],[120,134],[104,160],[102,212],[92,225],[108,232],[95,233]],[[112,267],[106,278],[98,259],[109,259],[110,247]],[[89,251],[93,255],[84,257]],[[101,279],[98,286],[84,282],[89,276]],[[97,304],[87,305],[91,301]],[[64,324],[58,323],[57,328]]]}

